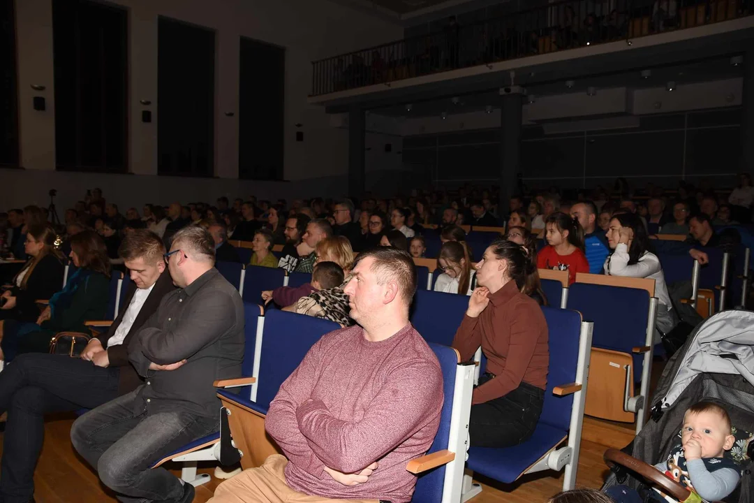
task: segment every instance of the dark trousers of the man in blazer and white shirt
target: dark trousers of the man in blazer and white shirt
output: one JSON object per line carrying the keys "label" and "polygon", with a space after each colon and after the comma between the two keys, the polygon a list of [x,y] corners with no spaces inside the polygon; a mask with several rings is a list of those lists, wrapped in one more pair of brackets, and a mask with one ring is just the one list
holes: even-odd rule
{"label": "dark trousers of the man in blazer and white shirt", "polygon": [[44,415],[93,409],[118,397],[117,367],[60,354],[20,354],[0,372],[0,413],[8,412],[0,501],[26,503],[44,438]]}

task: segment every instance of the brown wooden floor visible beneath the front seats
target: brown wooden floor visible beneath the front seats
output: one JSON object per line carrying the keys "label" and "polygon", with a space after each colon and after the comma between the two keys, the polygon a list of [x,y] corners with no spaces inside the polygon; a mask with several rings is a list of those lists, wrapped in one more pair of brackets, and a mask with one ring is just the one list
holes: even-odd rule
{"label": "brown wooden floor visible beneath the front seats", "polygon": [[[76,454],[69,437],[72,416],[58,416],[48,420],[45,426],[44,447],[34,474],[35,500],[38,503],[101,503],[116,501],[112,492],[100,484],[97,475]],[[0,443],[2,446],[2,443]],[[581,459],[578,466],[577,484],[580,487],[602,485],[607,468],[602,462],[605,446],[584,440],[581,443]],[[173,465],[170,468],[177,468]],[[214,468],[207,465],[200,472],[212,474]],[[173,473],[180,474],[179,469]],[[210,483],[198,487],[195,503],[204,503],[220,483],[213,477]],[[562,473],[543,472],[523,477],[515,484],[504,486],[494,481],[481,480],[483,492],[474,498],[474,503],[539,503],[547,501],[562,487]],[[494,485],[487,485],[486,482]]]}

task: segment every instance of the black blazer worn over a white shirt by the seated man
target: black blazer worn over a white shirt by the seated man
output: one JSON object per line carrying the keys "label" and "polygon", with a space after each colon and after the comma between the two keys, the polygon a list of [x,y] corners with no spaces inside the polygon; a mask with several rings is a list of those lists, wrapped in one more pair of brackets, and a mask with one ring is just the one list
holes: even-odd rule
{"label": "black blazer worn over a white shirt by the seated man", "polygon": [[152,314],[155,314],[155,311],[157,311],[160,301],[165,294],[172,292],[176,288],[173,284],[173,278],[170,278],[170,272],[165,268],[165,271],[155,283],[155,287],[152,288],[146,301],[144,301],[139,314],[136,315],[136,320],[133,321],[133,325],[131,325],[130,330],[128,330],[126,338],[123,339],[123,343],[108,348],[107,342],[110,337],[115,335],[115,330],[118,330],[121,321],[123,321],[123,316],[126,314],[128,305],[131,303],[131,299],[133,299],[133,294],[136,293],[136,284],[127,279],[124,279],[124,281],[129,281],[129,285],[126,290],[126,299],[123,302],[123,308],[118,313],[118,317],[115,318],[115,321],[112,322],[112,325],[110,325],[109,330],[107,330],[106,333],[101,333],[97,336],[97,339],[102,343],[102,347],[107,350],[110,367],[118,367],[121,370],[118,394],[126,394],[135,390],[142,384],[141,378],[139,378],[136,370],[133,370],[133,367],[128,361],[128,344],[131,342],[131,339],[133,339],[133,336],[139,332],[139,329],[143,326],[144,322],[149,320],[149,317],[152,316]]}

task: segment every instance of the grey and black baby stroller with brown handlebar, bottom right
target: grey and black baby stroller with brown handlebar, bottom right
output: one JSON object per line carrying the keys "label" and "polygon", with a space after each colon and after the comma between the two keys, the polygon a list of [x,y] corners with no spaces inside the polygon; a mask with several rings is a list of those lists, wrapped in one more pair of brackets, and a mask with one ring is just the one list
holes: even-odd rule
{"label": "grey and black baby stroller with brown handlebar, bottom right", "polygon": [[621,483],[640,495],[656,487],[678,501],[699,501],[652,465],[667,459],[673,444],[679,443],[685,410],[703,399],[725,407],[736,437],[725,455],[740,465],[741,480],[724,501],[752,503],[754,311],[721,311],[694,329],[660,377],[649,422],[624,449],[605,452],[611,474],[602,491]]}

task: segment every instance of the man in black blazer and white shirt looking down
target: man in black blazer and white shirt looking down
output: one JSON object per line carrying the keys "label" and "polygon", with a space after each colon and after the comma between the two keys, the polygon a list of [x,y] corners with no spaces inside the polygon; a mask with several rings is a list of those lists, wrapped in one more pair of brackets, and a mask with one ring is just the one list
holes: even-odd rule
{"label": "man in black blazer and white shirt looking down", "polygon": [[128,344],[175,286],[162,240],[138,229],[118,250],[130,285],[118,317],[90,340],[81,358],[23,354],[0,373],[0,413],[8,412],[0,463],[0,501],[29,501],[42,446],[44,415],[93,409],[142,384],[128,360]]}

